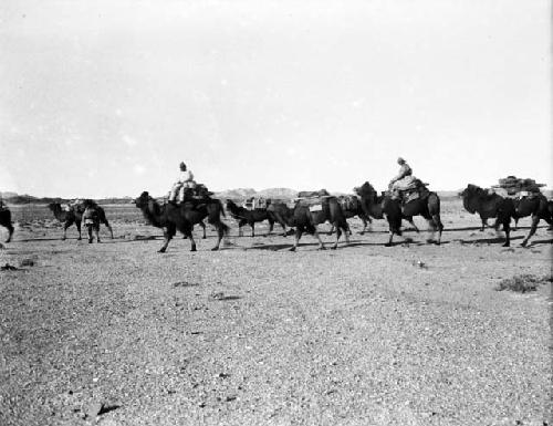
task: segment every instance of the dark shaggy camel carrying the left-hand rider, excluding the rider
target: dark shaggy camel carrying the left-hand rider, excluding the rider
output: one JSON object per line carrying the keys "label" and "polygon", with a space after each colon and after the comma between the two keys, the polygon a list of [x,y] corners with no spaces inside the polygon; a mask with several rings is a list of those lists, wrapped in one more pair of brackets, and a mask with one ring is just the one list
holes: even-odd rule
{"label": "dark shaggy camel carrying the left-hand rider, excluding the rider", "polygon": [[190,251],[196,251],[192,228],[195,224],[200,224],[206,217],[208,222],[217,228],[219,237],[217,245],[211,250],[219,250],[222,237],[229,231],[229,227],[221,221],[221,215],[225,217],[225,210],[218,199],[206,197],[201,200],[185,200],[179,205],[168,202],[160,206],[147,191],[144,191],[135,200],[135,205],[152,226],[164,229],[164,245],[158,250],[160,253],[167,250],[167,246],[177,230],[190,240]]}

